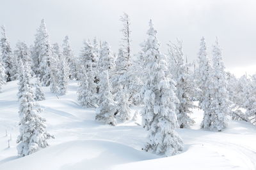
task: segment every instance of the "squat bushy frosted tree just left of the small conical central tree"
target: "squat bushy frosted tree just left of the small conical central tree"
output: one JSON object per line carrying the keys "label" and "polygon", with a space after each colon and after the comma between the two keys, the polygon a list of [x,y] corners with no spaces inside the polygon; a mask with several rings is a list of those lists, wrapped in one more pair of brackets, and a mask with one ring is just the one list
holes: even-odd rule
{"label": "squat bushy frosted tree just left of the small conical central tree", "polygon": [[[91,67],[92,69],[92,64]],[[94,76],[92,75],[92,71],[88,71],[83,69],[83,76],[81,76],[81,80],[79,80],[79,88],[77,91],[78,101],[82,106],[93,107],[97,106],[96,102],[96,85],[94,83]],[[88,75],[88,76],[87,76]]]}

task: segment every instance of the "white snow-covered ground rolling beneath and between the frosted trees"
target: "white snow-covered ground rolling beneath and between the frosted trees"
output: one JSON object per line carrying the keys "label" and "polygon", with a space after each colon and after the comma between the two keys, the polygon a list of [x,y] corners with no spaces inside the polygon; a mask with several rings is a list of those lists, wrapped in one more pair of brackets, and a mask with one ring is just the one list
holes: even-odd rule
{"label": "white snow-covered ground rolling beneath and between the frosted trees", "polygon": [[116,127],[95,122],[95,111],[77,103],[76,90],[77,82],[70,81],[67,95],[58,99],[49,87],[44,87],[42,117],[47,119],[47,131],[56,139],[49,141],[48,148],[20,158],[15,143],[19,134],[17,81],[4,85],[0,94],[1,170],[256,169],[256,127],[251,124],[230,122],[223,132],[204,131],[199,126],[202,111],[195,110],[192,117],[196,124],[191,129],[177,130],[184,140],[184,152],[159,157],[141,150],[147,132],[135,122]]}

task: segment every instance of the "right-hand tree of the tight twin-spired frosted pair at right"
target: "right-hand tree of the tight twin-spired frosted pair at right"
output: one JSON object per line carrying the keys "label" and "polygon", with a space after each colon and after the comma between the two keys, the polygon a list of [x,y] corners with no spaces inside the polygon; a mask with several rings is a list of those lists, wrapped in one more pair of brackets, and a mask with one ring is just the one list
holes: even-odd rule
{"label": "right-hand tree of the tight twin-spired frosted pair at right", "polygon": [[217,40],[212,50],[212,65],[213,69],[210,72],[210,81],[208,80],[205,83],[207,87],[205,96],[209,97],[207,101],[209,107],[204,109],[202,127],[222,131],[227,127],[227,115],[230,113],[230,103],[228,101],[225,67]]}

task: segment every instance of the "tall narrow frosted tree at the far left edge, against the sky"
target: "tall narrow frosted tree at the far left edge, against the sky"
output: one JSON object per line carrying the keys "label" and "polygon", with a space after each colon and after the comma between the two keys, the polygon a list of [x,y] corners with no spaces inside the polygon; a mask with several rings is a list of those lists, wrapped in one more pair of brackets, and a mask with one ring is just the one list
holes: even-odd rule
{"label": "tall narrow frosted tree at the far left edge, against the sky", "polygon": [[8,41],[8,38],[6,37],[5,27],[1,26],[1,29],[2,29],[2,32],[1,32],[2,36],[0,41],[1,59],[5,69],[5,73],[7,75],[6,80],[12,81],[12,80],[15,80],[14,78],[12,78],[13,74],[15,75],[15,73],[13,73],[14,58],[12,55],[12,48],[10,46],[10,42]]}

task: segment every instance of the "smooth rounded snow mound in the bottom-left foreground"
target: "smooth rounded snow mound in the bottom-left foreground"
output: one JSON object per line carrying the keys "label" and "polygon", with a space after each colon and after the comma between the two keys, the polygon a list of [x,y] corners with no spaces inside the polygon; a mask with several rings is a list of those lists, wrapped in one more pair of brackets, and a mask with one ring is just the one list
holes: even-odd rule
{"label": "smooth rounded snow mound in the bottom-left foreground", "polygon": [[110,169],[117,164],[156,159],[156,155],[141,152],[120,143],[103,140],[81,140],[61,143],[27,157],[12,157],[0,169]]}

